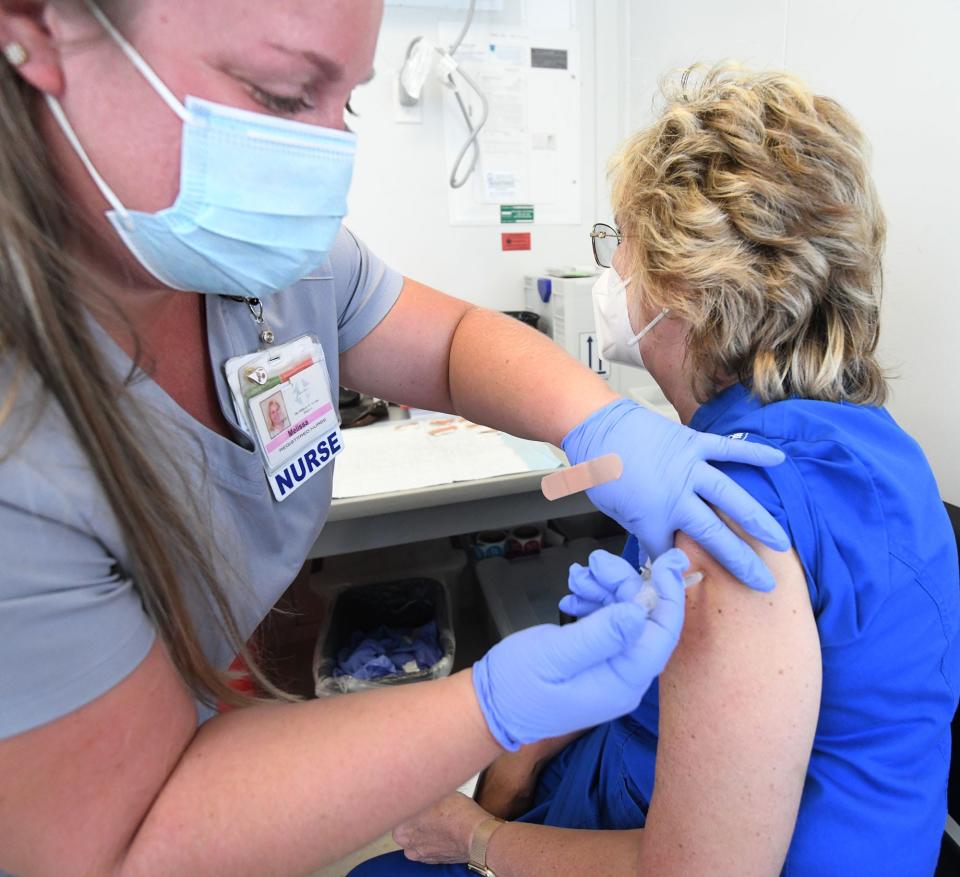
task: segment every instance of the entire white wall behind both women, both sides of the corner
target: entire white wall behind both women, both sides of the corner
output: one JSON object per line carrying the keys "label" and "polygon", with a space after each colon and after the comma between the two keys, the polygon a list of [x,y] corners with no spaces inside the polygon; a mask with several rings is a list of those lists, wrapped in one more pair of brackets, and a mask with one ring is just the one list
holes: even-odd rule
{"label": "entire white wall behind both women, both sides of the corner", "polygon": [[[533,250],[502,253],[504,227],[454,227],[447,213],[439,86],[423,124],[394,121],[392,79],[410,39],[435,36],[455,10],[390,7],[377,76],[357,91],[361,118],[348,223],[404,273],[498,309],[522,305],[522,277],[589,262],[587,232],[609,218],[605,165],[643,124],[661,76],[694,60],[782,67],[836,97],[874,147],[889,223],[881,357],[893,371],[891,410],[923,445],[944,498],[960,504],[960,332],[954,237],[960,235],[960,34],[957,0],[505,0],[479,25],[520,25],[570,9],[582,40],[582,223],[534,225]],[[542,21],[542,18],[538,18]],[[593,184],[587,184],[592,178]],[[511,227],[505,227],[511,228]],[[515,228],[515,227],[513,227]],[[526,229],[525,229],[526,230]]]}

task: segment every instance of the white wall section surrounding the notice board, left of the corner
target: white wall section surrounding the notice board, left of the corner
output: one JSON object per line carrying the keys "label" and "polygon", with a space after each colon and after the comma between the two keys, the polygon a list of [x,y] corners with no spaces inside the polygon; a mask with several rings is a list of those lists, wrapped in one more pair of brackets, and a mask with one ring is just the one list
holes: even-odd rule
{"label": "white wall section surrounding the notice board, left of the corner", "polygon": [[[569,18],[581,34],[583,185],[579,225],[450,225],[446,189],[450,168],[444,159],[441,86],[434,82],[425,91],[422,124],[398,124],[394,120],[393,77],[413,37],[423,34],[436,40],[437,22],[462,21],[462,12],[448,9],[438,14],[388,7],[377,49],[377,75],[357,90],[353,101],[360,118],[350,124],[359,134],[360,146],[347,224],[404,274],[500,310],[522,307],[524,274],[542,273],[550,264],[592,263],[587,233],[598,218],[604,218],[596,215],[595,194],[598,128],[593,98],[598,53],[594,50],[594,0],[505,0],[502,12],[478,12],[476,22],[481,27],[543,25],[551,18],[551,10],[558,11],[561,21]],[[610,22],[602,27],[609,29]],[[622,80],[619,47],[600,55],[601,70],[607,65],[603,78]],[[605,102],[614,124],[620,119],[620,106],[616,94]],[[609,125],[604,128],[605,152],[619,133]],[[500,234],[511,230],[530,231],[532,250],[502,252]]]}

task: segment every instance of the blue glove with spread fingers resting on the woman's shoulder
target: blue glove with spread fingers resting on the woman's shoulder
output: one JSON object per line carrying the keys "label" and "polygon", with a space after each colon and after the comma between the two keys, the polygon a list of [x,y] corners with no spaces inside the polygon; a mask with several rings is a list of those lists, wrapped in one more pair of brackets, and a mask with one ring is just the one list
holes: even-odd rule
{"label": "blue glove with spread fingers resting on the woman's shoulder", "polygon": [[671,548],[673,534],[682,530],[740,581],[761,591],[773,589],[770,570],[707,503],[778,551],[790,547],[787,534],[749,493],[706,461],[775,466],[783,462],[781,451],[696,432],[627,399],[611,402],[575,426],[563,450],[574,466],[619,455],[623,475],[591,488],[587,496],[636,536],[651,557]]}

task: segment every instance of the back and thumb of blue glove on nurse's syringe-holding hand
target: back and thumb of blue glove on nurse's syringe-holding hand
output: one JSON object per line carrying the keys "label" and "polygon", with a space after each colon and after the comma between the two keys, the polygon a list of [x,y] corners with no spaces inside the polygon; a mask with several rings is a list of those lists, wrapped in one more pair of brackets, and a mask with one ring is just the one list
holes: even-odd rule
{"label": "back and thumb of blue glove on nurse's syringe-holding hand", "polygon": [[677,553],[681,562],[663,565],[664,593],[649,620],[636,603],[614,603],[564,627],[521,630],[473,665],[480,709],[504,749],[590,728],[636,709],[683,626],[687,561]]}

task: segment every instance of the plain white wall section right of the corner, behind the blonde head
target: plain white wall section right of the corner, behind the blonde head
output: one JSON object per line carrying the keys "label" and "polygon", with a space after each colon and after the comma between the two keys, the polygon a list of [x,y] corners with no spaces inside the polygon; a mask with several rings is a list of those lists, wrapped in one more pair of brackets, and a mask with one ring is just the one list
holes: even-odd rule
{"label": "plain white wall section right of the corner, behind the blonde head", "polygon": [[[602,2],[602,0],[600,0]],[[887,213],[881,358],[891,411],[960,504],[960,37],[957,0],[620,0],[629,16],[628,128],[671,68],[737,58],[838,99],[873,144]]]}

